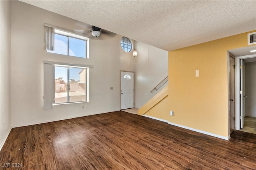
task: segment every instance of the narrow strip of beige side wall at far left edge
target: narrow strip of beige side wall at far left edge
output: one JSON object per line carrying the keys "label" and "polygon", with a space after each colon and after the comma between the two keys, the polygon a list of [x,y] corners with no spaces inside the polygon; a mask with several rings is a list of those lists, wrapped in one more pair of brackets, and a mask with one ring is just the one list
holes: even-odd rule
{"label": "narrow strip of beige side wall at far left edge", "polygon": [[11,129],[11,2],[0,1],[0,149]]}

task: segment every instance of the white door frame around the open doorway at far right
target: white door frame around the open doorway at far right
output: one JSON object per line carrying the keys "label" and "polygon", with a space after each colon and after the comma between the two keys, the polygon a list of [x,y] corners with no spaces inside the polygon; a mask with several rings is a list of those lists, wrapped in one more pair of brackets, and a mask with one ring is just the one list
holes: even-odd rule
{"label": "white door frame around the open doorway at far right", "polygon": [[249,58],[254,58],[256,57],[255,54],[253,55],[244,55],[244,56],[239,56],[239,57],[236,57],[236,76],[235,76],[235,81],[236,81],[236,106],[235,106],[235,114],[236,114],[236,130],[240,130],[241,129],[241,123],[240,123],[240,110],[241,110],[241,107],[240,107],[240,60],[242,59],[249,59]]}

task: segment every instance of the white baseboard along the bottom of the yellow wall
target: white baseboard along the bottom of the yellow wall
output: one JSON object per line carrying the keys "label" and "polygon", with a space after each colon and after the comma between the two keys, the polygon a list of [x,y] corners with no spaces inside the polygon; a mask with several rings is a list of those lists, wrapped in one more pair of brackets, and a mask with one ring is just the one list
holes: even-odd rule
{"label": "white baseboard along the bottom of the yellow wall", "polygon": [[142,116],[145,116],[145,117],[149,117],[151,119],[156,119],[156,120],[159,120],[159,121],[163,121],[163,122],[166,122],[170,125],[174,125],[174,126],[178,126],[178,127],[182,127],[184,129],[188,129],[190,131],[195,131],[195,132],[199,132],[199,133],[202,133],[202,134],[206,134],[206,135],[210,135],[210,136],[213,136],[213,137],[217,137],[217,138],[220,138],[220,139],[225,139],[225,140],[229,140],[230,139],[230,136],[228,137],[223,137],[223,136],[220,136],[220,135],[216,135],[214,133],[209,133],[209,132],[206,132],[206,131],[201,131],[201,130],[198,130],[198,129],[194,129],[194,128],[191,128],[191,127],[186,127],[186,126],[183,126],[183,125],[178,125],[176,123],[172,123],[172,122],[169,122],[167,120],[164,120],[164,119],[158,119],[156,117],[152,117],[152,116],[148,116],[148,115],[142,115]]}

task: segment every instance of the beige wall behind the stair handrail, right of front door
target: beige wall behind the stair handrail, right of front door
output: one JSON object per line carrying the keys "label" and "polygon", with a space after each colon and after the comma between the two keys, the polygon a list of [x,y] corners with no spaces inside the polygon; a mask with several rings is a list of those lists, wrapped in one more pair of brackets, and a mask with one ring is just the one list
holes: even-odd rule
{"label": "beige wall behind the stair handrail, right of front door", "polygon": [[168,76],[168,51],[137,42],[138,56],[134,58],[135,67],[135,107],[142,107],[158,91],[150,92],[158,83]]}

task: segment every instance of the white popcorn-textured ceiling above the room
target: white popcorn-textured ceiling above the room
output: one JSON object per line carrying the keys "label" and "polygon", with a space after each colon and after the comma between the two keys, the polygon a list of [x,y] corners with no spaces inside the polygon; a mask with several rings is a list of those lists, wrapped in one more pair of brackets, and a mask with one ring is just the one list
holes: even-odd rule
{"label": "white popcorn-textured ceiling above the room", "polygon": [[256,29],[256,0],[22,0],[172,51]]}

